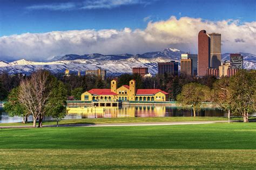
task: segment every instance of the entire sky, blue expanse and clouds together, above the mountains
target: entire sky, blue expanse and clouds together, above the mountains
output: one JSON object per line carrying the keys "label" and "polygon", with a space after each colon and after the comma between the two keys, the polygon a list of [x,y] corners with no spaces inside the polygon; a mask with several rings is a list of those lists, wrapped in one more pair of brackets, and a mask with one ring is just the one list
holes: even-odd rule
{"label": "entire sky, blue expanse and clouds together, above the mountains", "polygon": [[255,0],[0,0],[0,60],[178,48],[197,53],[200,30],[222,53],[256,54]]}

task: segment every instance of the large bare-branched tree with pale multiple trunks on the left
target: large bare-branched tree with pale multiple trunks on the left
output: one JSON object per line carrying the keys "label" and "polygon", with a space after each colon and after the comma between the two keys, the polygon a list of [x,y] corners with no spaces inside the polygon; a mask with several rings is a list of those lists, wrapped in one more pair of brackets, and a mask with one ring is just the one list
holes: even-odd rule
{"label": "large bare-branched tree with pale multiple trunks on the left", "polygon": [[18,99],[32,115],[33,128],[36,127],[37,118],[39,119],[38,127],[42,127],[45,104],[50,96],[49,76],[49,72],[38,70],[31,75],[30,79],[25,79],[20,84]]}

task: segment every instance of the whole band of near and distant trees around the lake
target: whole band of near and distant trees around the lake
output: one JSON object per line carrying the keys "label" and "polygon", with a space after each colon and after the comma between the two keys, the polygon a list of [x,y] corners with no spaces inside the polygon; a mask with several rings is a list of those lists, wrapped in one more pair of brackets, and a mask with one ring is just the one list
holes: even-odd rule
{"label": "whole band of near and distant trees around the lake", "polygon": [[[110,88],[110,81],[92,76],[63,76],[51,74],[46,70],[38,70],[29,76],[7,73],[0,74],[0,101],[7,100],[5,110],[11,116],[33,117],[42,127],[44,116],[64,117],[66,100],[80,100],[80,95],[92,88]],[[118,77],[118,86],[136,80],[137,88],[159,88],[169,93],[169,99],[178,101],[181,107],[191,107],[196,111],[204,102],[214,102],[219,107],[233,114],[244,117],[255,111],[255,70],[241,70],[237,75],[228,78],[173,76],[170,74],[143,78],[138,74],[122,74]]]}

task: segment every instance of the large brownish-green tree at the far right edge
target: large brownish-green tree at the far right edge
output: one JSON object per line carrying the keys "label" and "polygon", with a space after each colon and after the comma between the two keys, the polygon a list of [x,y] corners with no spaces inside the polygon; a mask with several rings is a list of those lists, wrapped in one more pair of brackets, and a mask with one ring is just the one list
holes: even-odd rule
{"label": "large brownish-green tree at the far right edge", "polygon": [[241,115],[248,122],[256,110],[256,70],[239,70],[230,79],[230,100],[233,114]]}

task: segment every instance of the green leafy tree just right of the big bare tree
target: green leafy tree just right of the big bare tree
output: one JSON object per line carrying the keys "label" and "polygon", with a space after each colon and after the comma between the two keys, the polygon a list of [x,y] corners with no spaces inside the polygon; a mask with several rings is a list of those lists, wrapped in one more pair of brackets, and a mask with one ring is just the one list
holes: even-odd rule
{"label": "green leafy tree just right of the big bare tree", "polygon": [[49,100],[46,104],[46,116],[51,116],[58,119],[64,118],[66,116],[66,97],[67,90],[62,82],[58,81],[56,78],[52,82],[53,88],[51,90]]}

